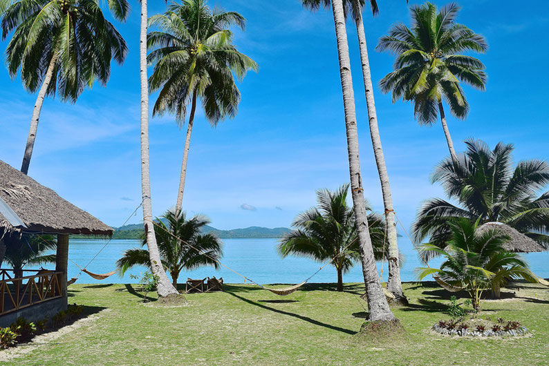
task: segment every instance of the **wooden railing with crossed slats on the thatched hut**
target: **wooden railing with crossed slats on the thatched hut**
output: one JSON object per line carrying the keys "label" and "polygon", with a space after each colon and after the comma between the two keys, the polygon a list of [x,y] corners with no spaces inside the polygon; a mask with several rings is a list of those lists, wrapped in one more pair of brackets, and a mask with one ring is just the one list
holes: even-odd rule
{"label": "wooden railing with crossed slats on the thatched hut", "polygon": [[62,297],[62,272],[25,271],[37,273],[32,276],[15,278],[8,273],[13,272],[12,269],[0,269],[2,275],[2,280],[0,280],[0,315]]}

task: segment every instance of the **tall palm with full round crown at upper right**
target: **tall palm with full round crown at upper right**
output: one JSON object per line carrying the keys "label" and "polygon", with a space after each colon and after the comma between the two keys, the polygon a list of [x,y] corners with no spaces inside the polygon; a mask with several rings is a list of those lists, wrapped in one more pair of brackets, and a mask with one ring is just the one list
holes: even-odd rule
{"label": "tall palm with full round crown at upper right", "polygon": [[440,113],[440,122],[446,136],[452,159],[456,151],[446,123],[443,99],[450,113],[465,119],[469,104],[460,81],[478,90],[485,90],[484,64],[462,52],[486,52],[487,44],[463,24],[456,23],[460,7],[456,3],[437,10],[426,3],[412,6],[412,28],[397,23],[389,35],[382,37],[377,50],[396,55],[395,69],[380,81],[384,93],[393,93],[393,102],[400,99],[413,101],[414,115],[419,124],[432,125]]}

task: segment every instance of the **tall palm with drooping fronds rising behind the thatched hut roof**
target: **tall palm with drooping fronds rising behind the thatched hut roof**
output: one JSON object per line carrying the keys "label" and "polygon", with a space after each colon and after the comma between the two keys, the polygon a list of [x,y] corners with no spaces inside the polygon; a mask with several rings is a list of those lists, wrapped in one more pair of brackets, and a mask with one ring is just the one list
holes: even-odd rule
{"label": "tall palm with drooping fronds rising behind the thatched hut roof", "polygon": [[[129,15],[127,0],[109,0],[113,15]],[[21,75],[29,93],[38,90],[21,171],[28,173],[44,98],[57,90],[75,103],[86,86],[105,85],[111,59],[122,64],[127,45],[95,0],[18,0],[3,12],[2,39],[10,32],[6,62],[11,77]]]}

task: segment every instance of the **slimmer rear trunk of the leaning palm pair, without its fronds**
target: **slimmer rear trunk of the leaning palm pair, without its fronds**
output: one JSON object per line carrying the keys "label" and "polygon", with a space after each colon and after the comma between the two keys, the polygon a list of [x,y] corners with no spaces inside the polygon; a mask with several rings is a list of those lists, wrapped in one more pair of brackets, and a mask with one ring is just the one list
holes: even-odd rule
{"label": "slimmer rear trunk of the leaning palm pair, without its fronds", "polygon": [[358,44],[360,46],[360,59],[362,60],[362,77],[364,77],[364,92],[366,93],[366,106],[368,107],[368,121],[370,124],[373,155],[375,156],[375,164],[378,166],[378,173],[380,175],[383,204],[385,206],[387,220],[387,240],[389,242],[389,280],[387,282],[387,290],[393,293],[396,302],[407,304],[408,300],[406,296],[404,296],[402,282],[400,282],[395,211],[393,210],[393,198],[391,197],[389,175],[387,174],[387,166],[385,165],[385,157],[381,145],[380,130],[378,128],[378,114],[375,112],[368,48],[366,46],[364,23],[362,22],[362,13],[360,11],[357,14],[356,26]]}

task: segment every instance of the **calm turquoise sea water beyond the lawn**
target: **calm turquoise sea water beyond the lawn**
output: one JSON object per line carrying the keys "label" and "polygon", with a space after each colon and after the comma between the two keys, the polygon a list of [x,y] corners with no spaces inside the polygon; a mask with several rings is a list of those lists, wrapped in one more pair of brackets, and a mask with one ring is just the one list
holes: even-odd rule
{"label": "calm turquoise sea water beyond the lawn", "polygon": [[[70,259],[68,262],[68,278],[76,277],[80,273],[78,267],[71,260],[84,267],[100,251],[104,244],[106,244],[106,240],[71,240],[68,251],[68,258]],[[224,239],[221,262],[225,266],[260,284],[299,283],[315,273],[321,265],[307,258],[281,258],[276,251],[276,246],[276,239]],[[134,247],[140,247],[139,240],[111,240],[105,249],[97,255],[97,258],[87,266],[87,269],[93,273],[113,271],[115,269],[115,262],[122,256],[122,253]],[[425,266],[418,259],[413,245],[407,238],[399,238],[399,248],[404,254],[404,264],[400,270],[402,281],[416,281],[417,278],[414,270],[416,267]],[[528,253],[524,256],[530,263],[530,268],[537,276],[549,278],[549,251]],[[429,265],[436,267],[440,262],[441,259],[438,258],[438,260],[429,262]],[[50,268],[52,264],[44,267]],[[382,269],[383,279],[387,281],[387,262],[383,264],[383,267],[381,263],[378,263],[378,271],[381,272]],[[138,282],[138,280],[130,278],[129,275],[140,276],[140,273],[145,273],[145,271],[147,271],[145,267],[133,267],[123,277],[116,273],[106,280],[94,280],[86,273],[81,273],[78,282],[134,283]],[[187,277],[196,279],[207,276],[223,277],[225,283],[243,283],[243,278],[223,267],[217,270],[213,267],[203,267],[195,271],[182,272],[180,273],[178,282],[184,283]],[[363,277],[360,264],[355,265],[351,271],[344,274],[343,280],[344,282],[362,282]],[[429,277],[426,280],[432,279]],[[331,265],[326,266],[310,280],[310,282],[335,281],[336,272]]]}

